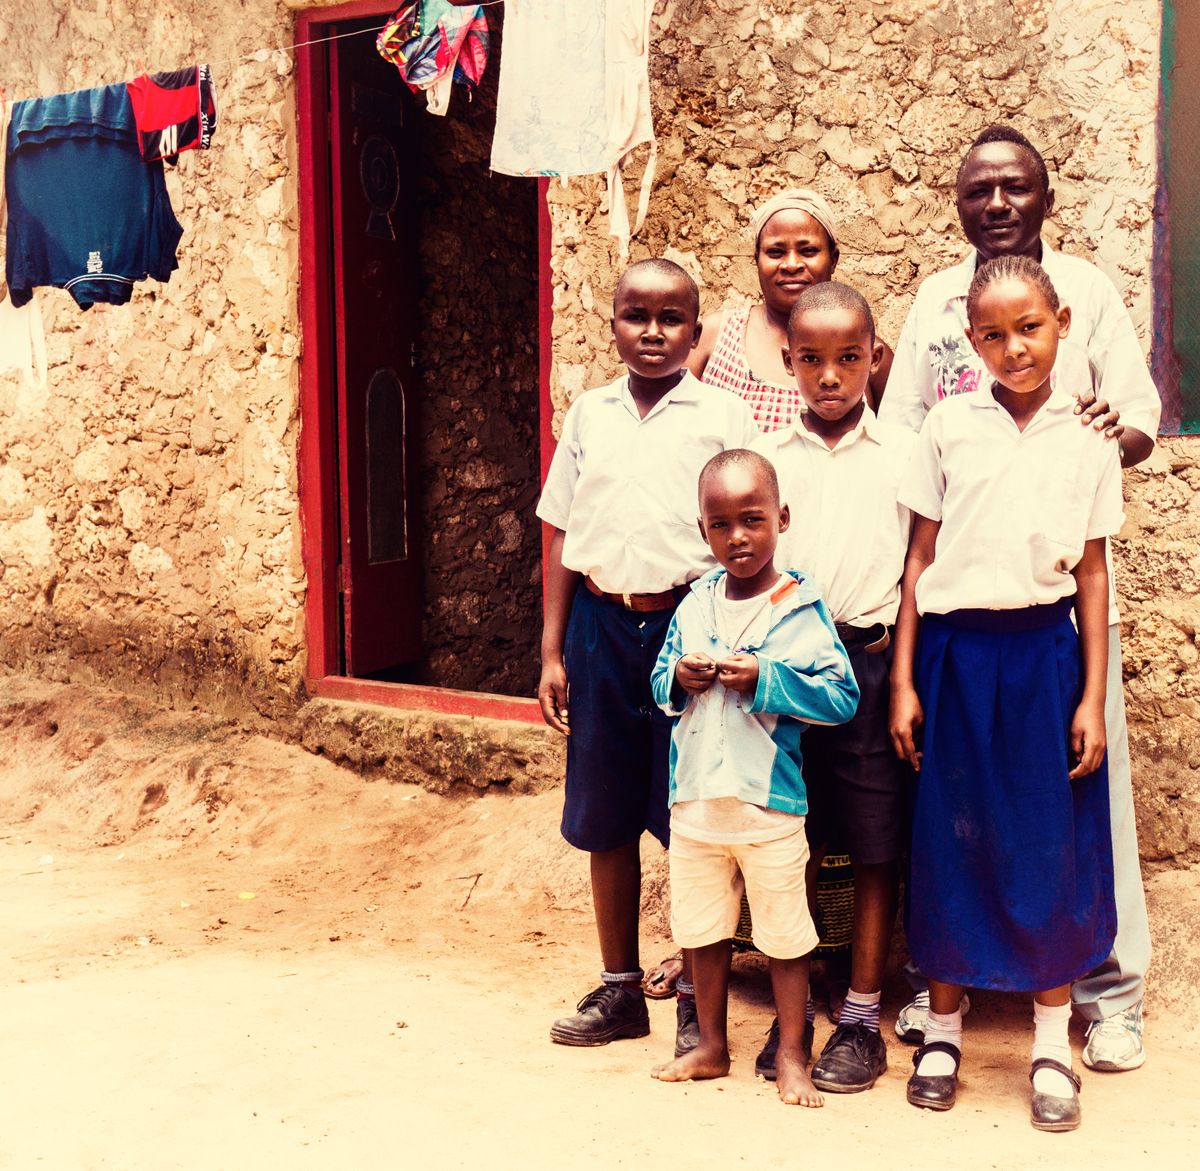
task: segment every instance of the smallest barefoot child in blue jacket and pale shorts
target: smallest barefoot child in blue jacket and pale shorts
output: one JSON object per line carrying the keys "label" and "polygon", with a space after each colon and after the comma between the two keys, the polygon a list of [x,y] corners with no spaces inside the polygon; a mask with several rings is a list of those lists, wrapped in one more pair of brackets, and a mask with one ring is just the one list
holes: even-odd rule
{"label": "smallest barefoot child in blue jacket and pale shorts", "polygon": [[[787,506],[770,463],[725,451],[700,478],[700,530],[721,569],[679,605],[654,697],[679,716],[671,753],[671,931],[690,951],[700,1041],[658,1065],[661,1081],[730,1071],[730,937],[750,901],[779,1011],[779,1097],[820,1106],[808,1075],[804,1005],[817,943],[804,894],[800,733],[854,714],[858,687],[824,603],[775,569]],[[811,1051],[811,1043],[809,1046]]]}

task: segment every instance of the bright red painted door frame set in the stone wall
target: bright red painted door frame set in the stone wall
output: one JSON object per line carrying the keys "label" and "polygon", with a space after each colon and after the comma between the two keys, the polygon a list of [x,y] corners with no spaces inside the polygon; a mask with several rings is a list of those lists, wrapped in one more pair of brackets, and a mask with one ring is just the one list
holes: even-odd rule
{"label": "bright red painted door frame set in the stone wall", "polygon": [[[329,24],[359,17],[388,17],[395,0],[353,0],[296,16],[296,42],[323,36]],[[498,62],[493,62],[493,68]],[[328,263],[331,210],[329,188],[318,176],[328,172],[325,145],[329,76],[319,50],[296,53],[296,139],[300,169],[300,547],[307,594],[305,642],[308,693],[330,699],[380,703],[391,708],[491,716],[541,723],[535,699],[451,691],[402,683],[378,683],[338,674],[337,621],[337,490],[334,478],[334,371],[328,344],[332,320],[332,289]],[[550,271],[551,221],[546,204],[548,179],[538,180],[538,344],[541,472],[554,451],[550,398],[553,283]],[[545,550],[545,541],[544,541]]]}

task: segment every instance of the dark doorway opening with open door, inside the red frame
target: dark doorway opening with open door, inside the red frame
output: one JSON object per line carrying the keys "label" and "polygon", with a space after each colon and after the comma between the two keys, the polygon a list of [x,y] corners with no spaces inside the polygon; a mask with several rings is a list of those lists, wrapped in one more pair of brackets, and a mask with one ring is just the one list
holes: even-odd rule
{"label": "dark doorway opening with open door, inside the red frame", "polygon": [[328,137],[320,352],[336,400],[326,644],[355,678],[532,695],[539,193],[488,170],[503,28],[490,8],[484,84],[469,100],[455,86],[439,118],[376,53],[380,19],[362,11],[308,25],[361,34],[320,46],[314,71],[329,92],[312,133]]}

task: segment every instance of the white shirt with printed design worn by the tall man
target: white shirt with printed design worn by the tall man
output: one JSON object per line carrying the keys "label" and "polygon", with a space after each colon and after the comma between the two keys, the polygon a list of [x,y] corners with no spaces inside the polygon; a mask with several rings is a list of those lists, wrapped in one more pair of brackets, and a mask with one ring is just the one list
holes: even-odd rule
{"label": "white shirt with printed design worn by the tall man", "polygon": [[[1121,294],[1094,264],[1055,252],[1045,240],[1042,266],[1060,302],[1070,307],[1070,332],[1058,343],[1055,362],[1056,385],[1068,390],[1091,388],[1121,413],[1123,424],[1154,439],[1163,404]],[[991,385],[991,376],[966,335],[967,290],[974,274],[972,250],[959,264],[922,282],[900,331],[880,406],[884,422],[918,431],[935,403]],[[1121,615],[1111,545],[1106,556],[1112,626]]]}

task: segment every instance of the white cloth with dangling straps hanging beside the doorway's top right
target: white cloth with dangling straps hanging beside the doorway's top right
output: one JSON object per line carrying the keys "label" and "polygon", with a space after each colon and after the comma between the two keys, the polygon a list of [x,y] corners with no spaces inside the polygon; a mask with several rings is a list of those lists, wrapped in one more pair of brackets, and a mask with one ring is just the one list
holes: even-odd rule
{"label": "white cloth with dangling straps hanging beside the doorway's top right", "polygon": [[[646,220],[658,143],[650,116],[654,0],[509,0],[500,53],[492,170],[505,175],[604,174],[610,234],[622,257]],[[632,227],[622,182],[649,144]]]}

